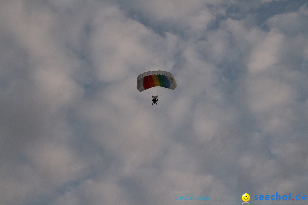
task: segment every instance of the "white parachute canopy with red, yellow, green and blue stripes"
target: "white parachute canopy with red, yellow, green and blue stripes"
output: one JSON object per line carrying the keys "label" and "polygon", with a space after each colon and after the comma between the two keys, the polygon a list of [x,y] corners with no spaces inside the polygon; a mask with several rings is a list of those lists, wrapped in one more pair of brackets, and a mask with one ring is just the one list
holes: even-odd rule
{"label": "white parachute canopy with red, yellow, green and blue stripes", "polygon": [[155,86],[174,90],[176,88],[176,81],[170,72],[161,70],[148,71],[137,77],[137,90],[140,92]]}

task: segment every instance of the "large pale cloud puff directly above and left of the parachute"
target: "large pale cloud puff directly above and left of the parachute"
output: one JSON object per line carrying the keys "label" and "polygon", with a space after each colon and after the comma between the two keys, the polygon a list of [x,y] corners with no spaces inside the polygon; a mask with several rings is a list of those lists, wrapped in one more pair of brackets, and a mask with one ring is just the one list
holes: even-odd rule
{"label": "large pale cloud puff directly above and left of the parachute", "polygon": [[[115,6],[102,9],[93,26],[97,29],[90,42],[92,60],[98,77],[103,81],[119,81],[126,76],[135,76],[131,69],[138,70],[138,73],[153,69],[153,66],[167,69],[165,67],[169,62],[165,59],[170,57],[167,51],[175,46],[176,41],[172,34],[167,35],[168,40],[165,40],[141,23],[127,19]],[[169,38],[173,39],[169,41]],[[163,53],[158,52],[161,49]]]}

